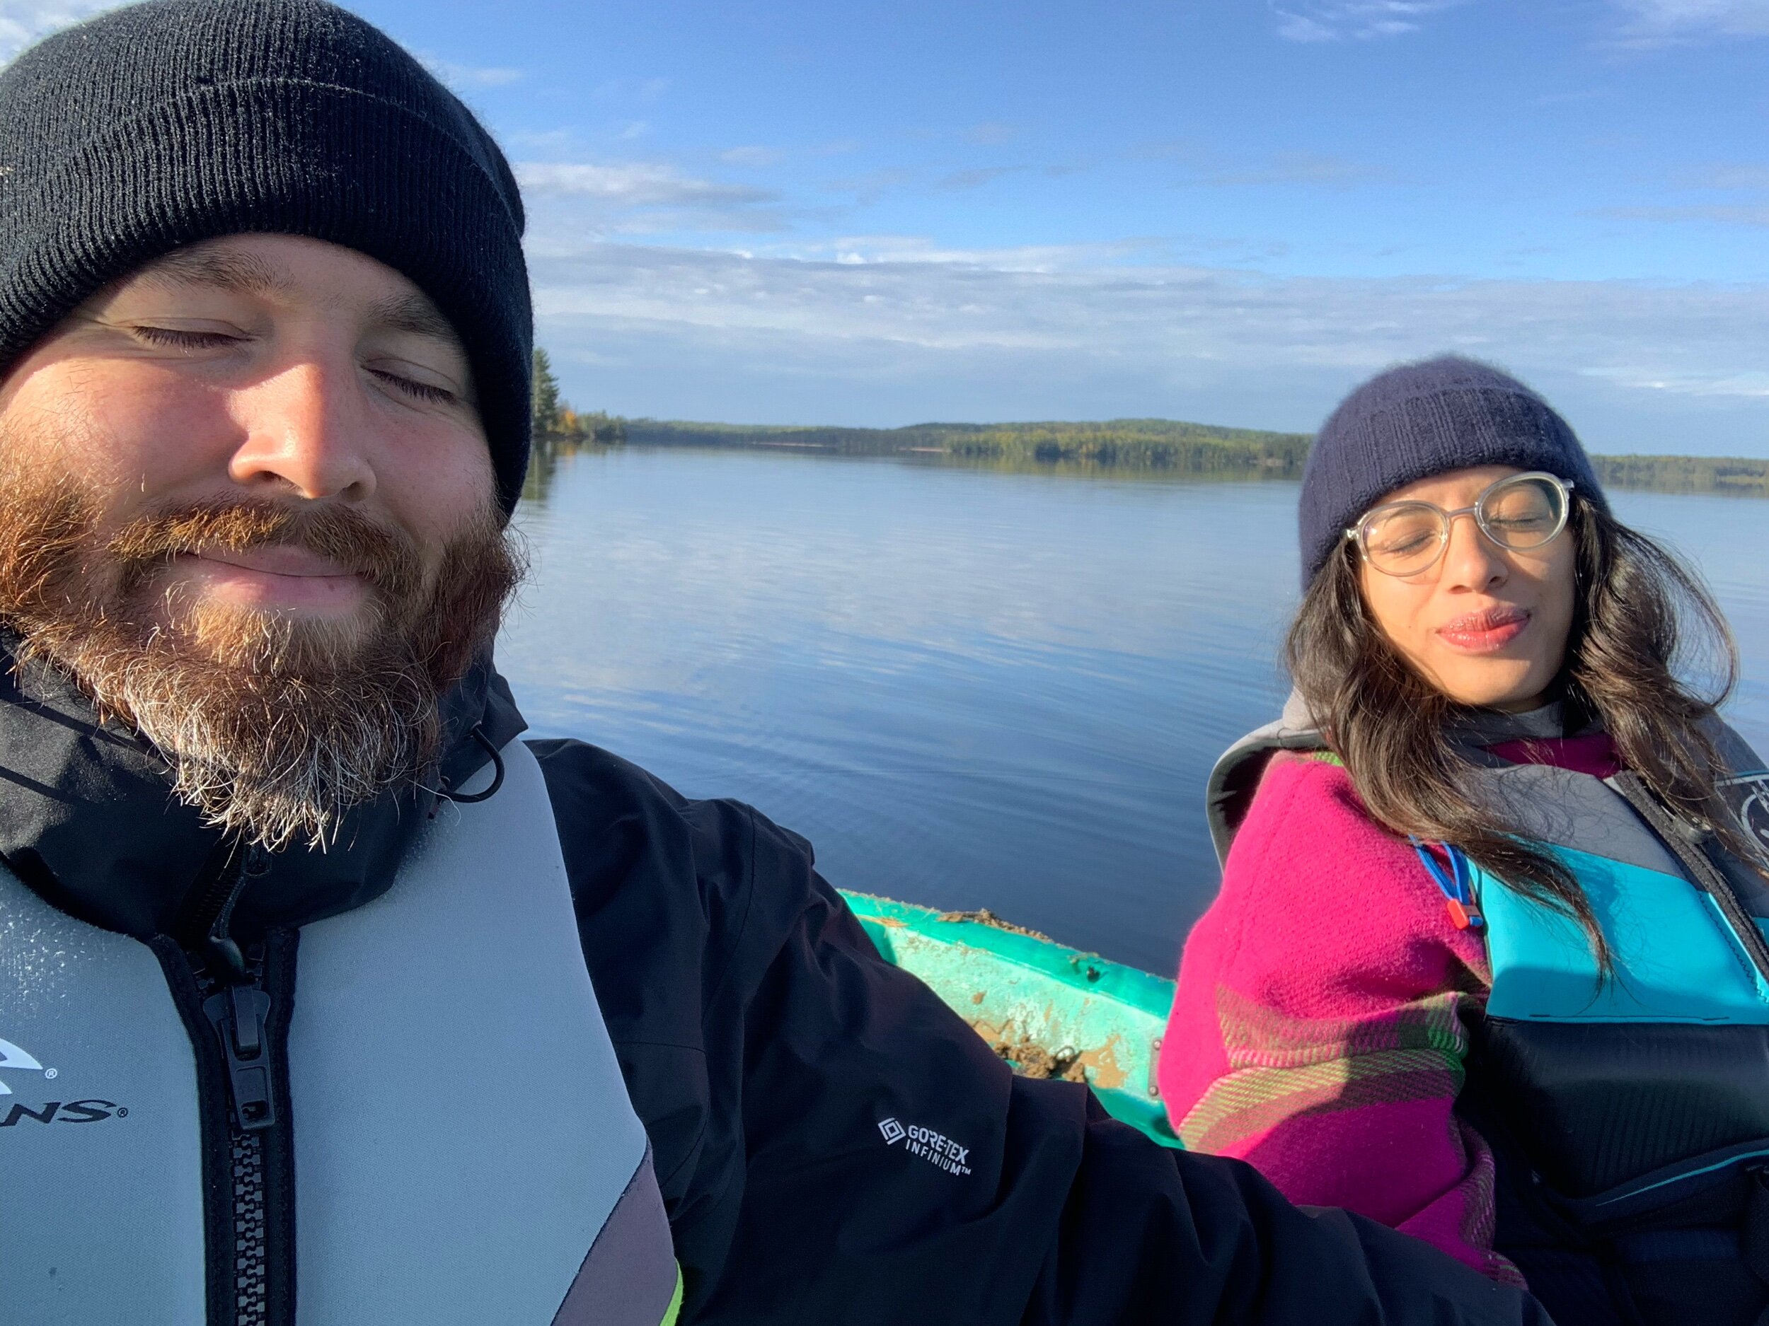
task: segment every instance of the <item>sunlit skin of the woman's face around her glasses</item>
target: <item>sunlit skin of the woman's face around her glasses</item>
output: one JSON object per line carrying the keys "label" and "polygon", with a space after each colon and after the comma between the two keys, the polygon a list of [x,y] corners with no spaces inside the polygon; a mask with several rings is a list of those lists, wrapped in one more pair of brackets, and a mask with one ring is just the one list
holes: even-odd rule
{"label": "sunlit skin of the woman's face around her glasses", "polygon": [[[1452,470],[1396,488],[1382,504],[1417,500],[1456,511],[1512,474],[1521,470]],[[1567,532],[1543,548],[1512,552],[1486,537],[1474,516],[1458,516],[1433,566],[1396,576],[1364,562],[1359,583],[1382,633],[1451,700],[1511,713],[1546,700],[1573,629],[1576,576]]]}

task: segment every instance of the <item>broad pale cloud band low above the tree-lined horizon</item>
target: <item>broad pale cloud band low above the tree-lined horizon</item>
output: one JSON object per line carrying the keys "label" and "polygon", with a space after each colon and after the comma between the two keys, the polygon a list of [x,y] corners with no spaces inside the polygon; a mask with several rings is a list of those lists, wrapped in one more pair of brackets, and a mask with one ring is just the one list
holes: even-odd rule
{"label": "broad pale cloud band low above the tree-lined horizon", "polygon": [[1769,285],[1272,278],[1102,258],[911,240],[849,240],[824,258],[591,244],[536,255],[534,281],[555,336],[716,334],[739,357],[766,345],[831,375],[962,375],[1007,357],[1028,382],[1044,364],[1350,378],[1459,348],[1659,394],[1757,400],[1769,361]]}

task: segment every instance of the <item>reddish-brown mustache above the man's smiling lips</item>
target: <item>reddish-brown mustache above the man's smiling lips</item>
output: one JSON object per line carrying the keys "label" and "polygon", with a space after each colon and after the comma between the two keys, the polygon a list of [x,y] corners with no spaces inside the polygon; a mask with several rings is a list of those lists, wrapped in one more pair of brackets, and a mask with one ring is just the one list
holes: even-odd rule
{"label": "reddish-brown mustache above the man's smiling lips", "polygon": [[106,545],[131,583],[179,555],[297,546],[361,576],[394,603],[423,589],[412,541],[341,506],[292,507],[262,499],[212,500],[136,516]]}

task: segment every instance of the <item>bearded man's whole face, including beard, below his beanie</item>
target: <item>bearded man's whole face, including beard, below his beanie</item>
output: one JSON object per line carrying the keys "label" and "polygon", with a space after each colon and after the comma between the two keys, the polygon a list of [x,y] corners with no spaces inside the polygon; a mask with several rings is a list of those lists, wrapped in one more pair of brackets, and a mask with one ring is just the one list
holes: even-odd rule
{"label": "bearded man's whole face, including beard, below his beanie", "polygon": [[0,387],[0,619],[265,847],[433,755],[520,575],[465,354],[318,240],[177,251]]}

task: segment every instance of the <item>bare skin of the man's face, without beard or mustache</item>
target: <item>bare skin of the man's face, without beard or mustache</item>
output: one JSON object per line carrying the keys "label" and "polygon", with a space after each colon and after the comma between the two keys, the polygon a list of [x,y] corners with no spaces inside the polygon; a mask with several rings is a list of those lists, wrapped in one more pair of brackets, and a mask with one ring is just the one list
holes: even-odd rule
{"label": "bare skin of the man's face, without beard or mustache", "polygon": [[12,472],[78,486],[101,537],[235,502],[297,516],[283,537],[165,548],[134,591],[193,636],[257,617],[348,636],[373,568],[299,537],[304,518],[380,530],[428,576],[492,492],[442,315],[391,267],[288,235],[179,249],[94,295],[7,377],[0,428]]}

